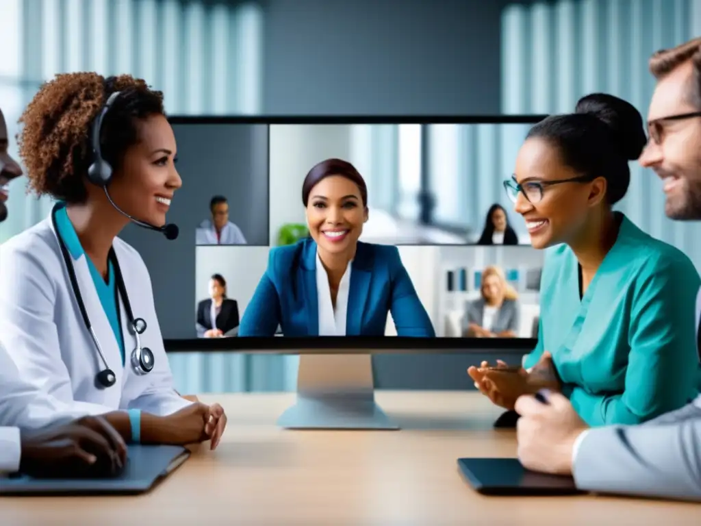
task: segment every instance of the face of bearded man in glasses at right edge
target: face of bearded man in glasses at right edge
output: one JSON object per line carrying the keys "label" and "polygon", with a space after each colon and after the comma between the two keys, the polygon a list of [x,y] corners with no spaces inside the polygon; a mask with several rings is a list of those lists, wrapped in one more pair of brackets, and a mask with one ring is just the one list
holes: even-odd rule
{"label": "face of bearded man in glasses at right edge", "polygon": [[651,140],[639,159],[662,179],[665,214],[675,220],[701,218],[701,116],[664,120],[701,111],[688,102],[691,79],[688,62],[658,81],[648,110]]}

